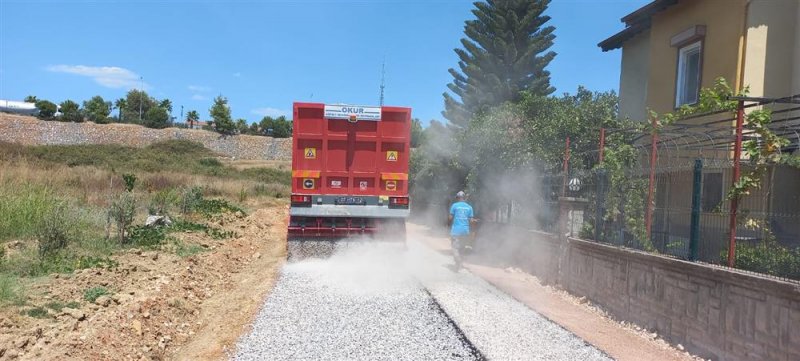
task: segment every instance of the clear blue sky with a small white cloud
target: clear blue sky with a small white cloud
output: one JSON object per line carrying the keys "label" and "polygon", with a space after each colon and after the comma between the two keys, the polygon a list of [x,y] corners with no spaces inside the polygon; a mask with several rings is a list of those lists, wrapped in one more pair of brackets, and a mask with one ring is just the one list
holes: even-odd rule
{"label": "clear blue sky with a small white cloud", "polygon": [[[619,51],[596,44],[648,0],[554,0],[550,63],[556,93],[616,90]],[[212,98],[235,118],[290,115],[293,101],[386,104],[442,119],[471,1],[0,0],[0,99],[60,102],[122,97],[144,88],[173,116]]]}

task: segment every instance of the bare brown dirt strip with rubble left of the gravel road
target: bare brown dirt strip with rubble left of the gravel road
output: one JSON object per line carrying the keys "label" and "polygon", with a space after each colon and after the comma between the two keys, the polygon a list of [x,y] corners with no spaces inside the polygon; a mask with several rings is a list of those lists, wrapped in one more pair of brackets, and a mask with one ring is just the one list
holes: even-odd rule
{"label": "bare brown dirt strip with rubble left of the gravel road", "polygon": [[[285,259],[285,206],[212,224],[232,239],[177,235],[205,251],[129,250],[110,269],[54,275],[32,287],[35,305],[56,300],[76,308],[39,318],[16,307],[0,310],[0,360],[209,360],[225,357],[255,315]],[[111,295],[93,303],[87,289]],[[31,305],[26,306],[29,310]],[[73,304],[73,307],[75,305]]]}

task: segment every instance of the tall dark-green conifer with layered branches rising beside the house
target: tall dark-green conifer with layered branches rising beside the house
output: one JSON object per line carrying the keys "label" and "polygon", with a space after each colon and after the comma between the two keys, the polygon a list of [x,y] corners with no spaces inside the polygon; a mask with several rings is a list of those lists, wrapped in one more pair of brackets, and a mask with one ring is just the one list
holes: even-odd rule
{"label": "tall dark-green conifer with layered branches rising beside the house", "polygon": [[544,70],[556,56],[545,52],[553,45],[550,20],[542,15],[550,0],[486,0],[476,2],[461,39],[464,49],[455,49],[461,71],[450,69],[453,82],[444,93],[450,123],[465,126],[475,112],[519,99],[520,91],[548,95],[550,72]]}

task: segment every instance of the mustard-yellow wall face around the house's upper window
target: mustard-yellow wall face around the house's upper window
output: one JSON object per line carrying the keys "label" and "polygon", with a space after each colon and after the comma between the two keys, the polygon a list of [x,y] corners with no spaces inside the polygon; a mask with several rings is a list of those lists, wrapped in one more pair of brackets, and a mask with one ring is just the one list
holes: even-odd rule
{"label": "mustard-yellow wall face around the house's upper window", "polygon": [[701,87],[713,85],[718,77],[725,77],[731,86],[738,84],[745,4],[744,0],[684,0],[653,15],[648,107],[659,113],[674,110],[678,49],[670,39],[695,25],[706,26]]}

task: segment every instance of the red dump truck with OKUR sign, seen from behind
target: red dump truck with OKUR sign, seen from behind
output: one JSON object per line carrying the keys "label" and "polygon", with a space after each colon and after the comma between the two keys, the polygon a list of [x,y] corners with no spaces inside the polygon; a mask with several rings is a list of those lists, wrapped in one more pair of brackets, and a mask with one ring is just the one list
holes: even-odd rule
{"label": "red dump truck with OKUR sign, seen from behind", "polygon": [[411,108],[294,103],[289,257],[405,242]]}

